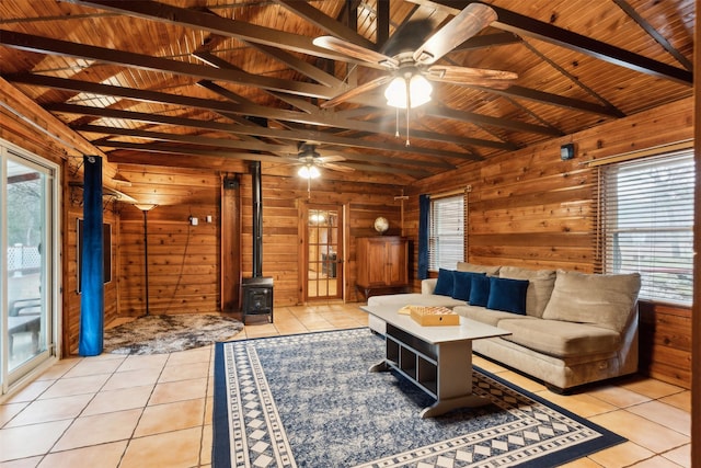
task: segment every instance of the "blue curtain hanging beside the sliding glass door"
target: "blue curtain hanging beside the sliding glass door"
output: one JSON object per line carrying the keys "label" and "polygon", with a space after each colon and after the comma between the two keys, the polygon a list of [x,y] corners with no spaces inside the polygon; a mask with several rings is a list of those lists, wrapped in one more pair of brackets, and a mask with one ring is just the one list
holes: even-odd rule
{"label": "blue curtain hanging beside the sliding glass door", "polygon": [[104,338],[104,256],[102,238],[102,158],[83,156],[83,239],[78,353],[96,356]]}

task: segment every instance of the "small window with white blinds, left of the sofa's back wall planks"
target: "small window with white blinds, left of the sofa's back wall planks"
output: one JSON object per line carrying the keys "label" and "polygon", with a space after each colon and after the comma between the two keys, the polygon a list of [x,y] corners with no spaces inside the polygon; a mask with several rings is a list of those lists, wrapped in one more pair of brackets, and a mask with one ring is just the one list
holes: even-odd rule
{"label": "small window with white blinds, left of the sofa's back wall planks", "polygon": [[428,269],[455,270],[464,260],[464,195],[430,201]]}

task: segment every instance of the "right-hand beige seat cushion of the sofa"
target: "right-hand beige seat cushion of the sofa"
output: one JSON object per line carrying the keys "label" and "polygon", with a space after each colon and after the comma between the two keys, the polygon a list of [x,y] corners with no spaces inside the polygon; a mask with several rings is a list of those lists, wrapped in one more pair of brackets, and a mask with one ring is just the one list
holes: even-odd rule
{"label": "right-hand beige seat cushion of the sofa", "polygon": [[619,333],[588,323],[503,319],[498,321],[498,328],[512,332],[502,336],[503,340],[559,357],[616,352],[621,345]]}

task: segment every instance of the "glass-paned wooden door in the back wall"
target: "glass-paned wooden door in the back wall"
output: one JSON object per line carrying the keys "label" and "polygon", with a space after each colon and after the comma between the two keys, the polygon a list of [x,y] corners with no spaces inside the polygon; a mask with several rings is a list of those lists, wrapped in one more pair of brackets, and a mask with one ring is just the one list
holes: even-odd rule
{"label": "glass-paned wooden door in the back wall", "polygon": [[343,269],[340,209],[310,207],[307,217],[307,297],[342,297]]}

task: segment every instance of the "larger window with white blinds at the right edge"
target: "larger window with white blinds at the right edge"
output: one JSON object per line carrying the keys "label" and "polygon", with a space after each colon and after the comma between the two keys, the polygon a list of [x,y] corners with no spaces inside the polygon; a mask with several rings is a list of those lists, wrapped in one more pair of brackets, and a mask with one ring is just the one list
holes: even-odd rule
{"label": "larger window with white blinds at the right edge", "polygon": [[690,150],[602,168],[604,272],[639,272],[641,298],[691,305],[693,187]]}

